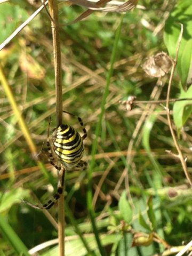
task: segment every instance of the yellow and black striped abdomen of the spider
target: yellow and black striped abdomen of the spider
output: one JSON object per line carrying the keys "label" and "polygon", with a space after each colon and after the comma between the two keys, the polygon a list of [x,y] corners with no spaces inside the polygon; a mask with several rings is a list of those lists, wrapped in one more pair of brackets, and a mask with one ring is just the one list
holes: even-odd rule
{"label": "yellow and black striped abdomen of the spider", "polygon": [[53,150],[61,164],[73,168],[83,157],[81,135],[67,124],[59,125],[53,132]]}

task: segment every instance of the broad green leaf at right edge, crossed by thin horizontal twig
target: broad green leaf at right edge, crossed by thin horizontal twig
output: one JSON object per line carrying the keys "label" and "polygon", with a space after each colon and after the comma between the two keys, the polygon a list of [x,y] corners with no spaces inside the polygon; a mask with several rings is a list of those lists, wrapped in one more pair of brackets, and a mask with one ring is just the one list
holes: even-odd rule
{"label": "broad green leaf at right edge, crossed by thin horizontal twig", "polygon": [[[187,92],[181,88],[181,93],[179,99],[192,98],[192,85],[189,87]],[[181,100],[176,101],[173,105],[173,120],[178,129],[178,132],[183,125],[187,122],[187,119],[192,113],[192,101],[191,100]]]}

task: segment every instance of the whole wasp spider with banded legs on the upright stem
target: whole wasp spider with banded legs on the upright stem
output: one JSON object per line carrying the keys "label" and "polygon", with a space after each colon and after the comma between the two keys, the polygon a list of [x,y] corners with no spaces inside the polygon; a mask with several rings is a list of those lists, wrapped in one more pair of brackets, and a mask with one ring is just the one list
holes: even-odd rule
{"label": "whole wasp spider with banded legs on the upright stem", "polygon": [[55,204],[55,202],[57,202],[63,191],[66,170],[85,170],[87,166],[87,163],[82,161],[84,153],[83,140],[87,136],[83,121],[80,117],[75,116],[67,111],[63,111],[63,113],[67,113],[71,116],[77,117],[79,123],[82,126],[84,134],[81,137],[81,135],[72,126],[68,124],[61,124],[53,129],[52,139],[50,141],[50,117],[46,139],[46,146],[49,154],[48,161],[58,170],[59,182],[57,193],[43,206],[34,205],[29,202],[22,201],[36,209],[48,210]]}

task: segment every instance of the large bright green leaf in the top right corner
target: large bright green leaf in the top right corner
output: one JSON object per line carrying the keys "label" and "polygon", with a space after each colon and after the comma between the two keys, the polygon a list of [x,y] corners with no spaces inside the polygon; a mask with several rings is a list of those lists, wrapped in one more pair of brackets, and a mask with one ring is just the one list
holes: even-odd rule
{"label": "large bright green leaf in the top right corner", "polygon": [[166,20],[164,42],[172,58],[175,57],[178,38],[183,24],[183,35],[179,49],[177,71],[183,87],[192,82],[192,5],[191,0],[180,0]]}

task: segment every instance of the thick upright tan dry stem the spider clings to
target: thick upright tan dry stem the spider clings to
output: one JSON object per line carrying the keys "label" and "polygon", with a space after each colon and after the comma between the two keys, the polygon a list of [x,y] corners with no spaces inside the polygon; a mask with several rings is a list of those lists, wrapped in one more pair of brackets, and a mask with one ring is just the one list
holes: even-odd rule
{"label": "thick upright tan dry stem the spider clings to", "polygon": [[[58,6],[56,0],[49,0],[49,9],[51,15],[51,28],[53,35],[53,55],[55,71],[55,92],[56,92],[56,118],[57,125],[62,124],[62,84],[61,84],[61,49],[59,36]],[[58,173],[58,175],[60,175]],[[64,189],[63,189],[64,191]],[[59,224],[59,255],[65,255],[65,211],[64,196],[62,194],[58,200],[58,224]]]}

